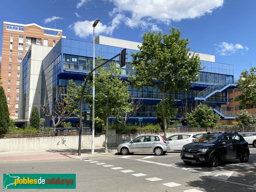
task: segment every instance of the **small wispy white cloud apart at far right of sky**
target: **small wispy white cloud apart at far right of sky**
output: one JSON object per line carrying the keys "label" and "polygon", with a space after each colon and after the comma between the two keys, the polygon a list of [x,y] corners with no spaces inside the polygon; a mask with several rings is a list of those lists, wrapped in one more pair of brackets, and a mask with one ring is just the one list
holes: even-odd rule
{"label": "small wispy white cloud apart at far right of sky", "polygon": [[241,44],[232,44],[227,42],[220,42],[213,45],[217,46],[215,50],[216,53],[219,53],[220,55],[231,55],[238,52],[244,54],[244,52],[247,52],[249,50],[248,47]]}

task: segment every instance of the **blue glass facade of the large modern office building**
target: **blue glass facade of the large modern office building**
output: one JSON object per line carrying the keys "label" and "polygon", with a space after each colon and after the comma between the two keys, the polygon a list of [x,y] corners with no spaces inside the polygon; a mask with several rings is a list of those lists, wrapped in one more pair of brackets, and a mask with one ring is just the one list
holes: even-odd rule
{"label": "blue glass facade of the large modern office building", "polygon": [[[102,44],[95,44],[95,58],[99,55],[104,58],[102,62],[105,62],[115,55],[119,54],[122,47],[114,47]],[[128,61],[132,60],[130,52],[136,53],[137,50],[127,49]],[[93,43],[77,41],[72,39],[62,38],[44,58],[42,62],[42,98],[41,102],[47,98],[53,103],[54,93],[56,87],[59,89],[65,89],[68,85],[69,79],[73,79],[76,84],[83,84],[86,73],[92,70],[92,59],[93,59]],[[119,67],[119,57],[114,59]],[[89,67],[86,63],[90,62]],[[201,93],[205,88],[212,87],[215,84],[220,84],[223,81],[233,81],[234,68],[233,65],[209,62],[201,60],[201,67],[205,68],[199,71],[199,81],[191,82],[193,87],[187,92],[171,92],[173,98],[177,100],[178,115],[181,113],[180,106],[184,101],[194,101],[198,97],[198,93]],[[108,68],[108,63],[104,65]],[[122,77],[127,79],[129,73],[134,74],[131,64],[127,64],[122,69]],[[156,104],[161,100],[161,93],[157,88],[152,89],[151,86],[143,87],[139,90],[132,89],[129,86],[129,91],[132,97],[142,98],[143,106],[137,111],[132,117],[129,118],[129,122],[138,122],[138,118],[143,117],[143,122],[156,123]],[[227,89],[221,90],[220,92],[213,92],[211,96],[205,97],[204,102],[213,102],[219,106],[227,103]],[[200,98],[199,98],[200,100]],[[50,110],[50,108],[49,108]],[[83,110],[88,111],[88,106],[84,104]],[[43,118],[41,113],[41,118]],[[75,120],[71,120],[71,122]],[[46,122],[51,122],[50,119],[46,119]],[[51,124],[51,123],[50,123]],[[51,126],[49,124],[49,126]]]}

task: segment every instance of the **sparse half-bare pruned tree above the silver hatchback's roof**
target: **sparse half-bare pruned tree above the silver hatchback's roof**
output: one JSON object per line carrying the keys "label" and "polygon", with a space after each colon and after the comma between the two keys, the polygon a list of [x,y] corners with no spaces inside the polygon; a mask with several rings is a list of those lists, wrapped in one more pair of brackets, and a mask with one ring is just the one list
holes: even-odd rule
{"label": "sparse half-bare pruned tree above the silver hatchback's roof", "polygon": [[142,101],[143,101],[143,99],[139,98],[135,102],[135,99],[131,98],[129,100],[129,102],[127,103],[127,105],[125,106],[125,108],[123,108],[119,111],[118,115],[116,116],[116,120],[119,123],[126,125],[129,117],[132,116],[133,114],[135,114],[136,111],[143,105]]}

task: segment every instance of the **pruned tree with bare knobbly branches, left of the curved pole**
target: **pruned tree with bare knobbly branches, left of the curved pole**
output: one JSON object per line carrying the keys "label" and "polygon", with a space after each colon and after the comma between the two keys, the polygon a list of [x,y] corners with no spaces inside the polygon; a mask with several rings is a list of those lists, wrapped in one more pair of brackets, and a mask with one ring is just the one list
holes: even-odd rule
{"label": "pruned tree with bare knobbly branches, left of the curved pole", "polygon": [[[51,102],[49,98],[44,98],[44,103],[41,105],[43,114],[45,117],[51,117],[53,129],[56,131],[56,127],[60,125],[63,121],[68,120],[72,116],[79,117],[79,107],[81,98],[81,85],[76,85],[74,81],[69,80],[69,86],[67,88],[57,88],[55,86],[54,92],[47,91],[46,95],[52,95],[54,97],[54,103]],[[85,94],[87,90],[85,90]],[[57,122],[55,120],[57,119]]]}

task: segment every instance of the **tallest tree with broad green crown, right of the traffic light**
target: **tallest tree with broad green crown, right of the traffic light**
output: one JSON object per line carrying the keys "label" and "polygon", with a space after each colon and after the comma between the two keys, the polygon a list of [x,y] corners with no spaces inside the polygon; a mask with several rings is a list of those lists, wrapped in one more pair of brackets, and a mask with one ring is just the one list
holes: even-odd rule
{"label": "tallest tree with broad green crown, right of the traffic light", "polygon": [[170,29],[171,34],[162,35],[149,31],[142,37],[140,52],[132,53],[132,66],[135,77],[129,79],[136,88],[151,85],[158,88],[162,94],[162,115],[164,120],[164,135],[166,135],[166,118],[164,113],[166,94],[174,91],[184,91],[191,87],[191,81],[198,81],[200,68],[199,56],[189,52],[187,39],[180,39],[180,30]]}

